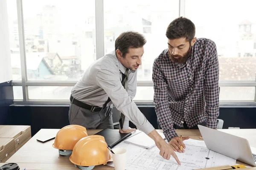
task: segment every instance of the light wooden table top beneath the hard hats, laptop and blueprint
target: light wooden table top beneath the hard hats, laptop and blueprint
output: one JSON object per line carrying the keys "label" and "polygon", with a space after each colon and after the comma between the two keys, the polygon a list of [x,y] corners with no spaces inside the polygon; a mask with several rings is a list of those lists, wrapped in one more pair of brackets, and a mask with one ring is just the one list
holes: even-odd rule
{"label": "light wooden table top beneath the hard hats, laptop and blueprint", "polygon": [[[11,158],[6,162],[17,163],[20,170],[79,170],[69,160],[69,156],[60,156],[58,150],[52,147],[54,140],[41,143],[36,141],[41,136],[52,136],[58,132],[59,129],[41,129],[35,134],[23,147],[20,148]],[[93,135],[100,130],[87,130],[88,135]],[[162,130],[159,130],[162,132]],[[221,130],[226,133],[235,134],[237,136],[248,139],[251,146],[256,147],[256,129],[228,129]],[[190,136],[192,139],[198,139],[201,136],[199,130],[177,130],[180,136]],[[0,163],[2,166],[5,163]],[[93,170],[114,170],[113,167],[107,165],[95,166]],[[247,170],[256,170],[254,168],[247,168]]]}

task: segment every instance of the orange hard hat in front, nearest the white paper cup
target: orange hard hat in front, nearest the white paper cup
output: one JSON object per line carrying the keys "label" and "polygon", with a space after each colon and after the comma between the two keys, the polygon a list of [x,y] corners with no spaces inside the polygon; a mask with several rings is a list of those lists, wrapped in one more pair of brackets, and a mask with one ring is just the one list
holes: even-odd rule
{"label": "orange hard hat in front, nearest the white paper cup", "polygon": [[80,169],[82,167],[92,169],[96,165],[105,165],[112,159],[105,138],[100,135],[92,135],[84,137],[76,143],[70,161]]}

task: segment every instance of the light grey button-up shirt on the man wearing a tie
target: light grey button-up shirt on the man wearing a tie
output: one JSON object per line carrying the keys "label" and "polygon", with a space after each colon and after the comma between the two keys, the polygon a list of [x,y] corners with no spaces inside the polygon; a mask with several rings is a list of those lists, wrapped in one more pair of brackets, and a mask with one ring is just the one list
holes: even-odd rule
{"label": "light grey button-up shirt on the man wearing a tie", "polygon": [[88,105],[103,107],[110,97],[117,110],[125,115],[124,129],[128,129],[129,120],[137,129],[148,134],[154,127],[140,112],[133,102],[136,94],[137,71],[129,71],[128,91],[122,86],[122,73],[126,68],[119,62],[115,51],[98,59],[85,71],[83,77],[76,83],[71,91],[72,96]]}

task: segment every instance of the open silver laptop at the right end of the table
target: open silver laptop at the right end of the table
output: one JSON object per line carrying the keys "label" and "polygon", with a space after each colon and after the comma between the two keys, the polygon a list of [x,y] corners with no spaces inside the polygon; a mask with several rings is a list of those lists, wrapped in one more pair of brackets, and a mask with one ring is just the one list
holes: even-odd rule
{"label": "open silver laptop at the right end of the table", "polygon": [[209,150],[256,166],[256,155],[252,153],[247,139],[201,125],[198,128]]}

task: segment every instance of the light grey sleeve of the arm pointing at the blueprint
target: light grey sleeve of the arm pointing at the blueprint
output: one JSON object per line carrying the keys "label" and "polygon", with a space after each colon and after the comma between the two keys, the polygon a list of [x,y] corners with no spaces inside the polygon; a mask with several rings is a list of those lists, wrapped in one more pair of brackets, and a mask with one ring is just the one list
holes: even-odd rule
{"label": "light grey sleeve of the arm pointing at the blueprint", "polygon": [[[125,117],[136,125],[137,129],[148,134],[154,127],[140,112],[137,105],[132,101],[131,96],[123,88],[119,79],[119,72],[108,68],[101,68],[96,75],[96,83],[110,97],[117,110],[121,111]],[[130,81],[129,81],[130,82]],[[131,83],[134,83],[131,81]],[[135,94],[134,94],[135,96]]]}

